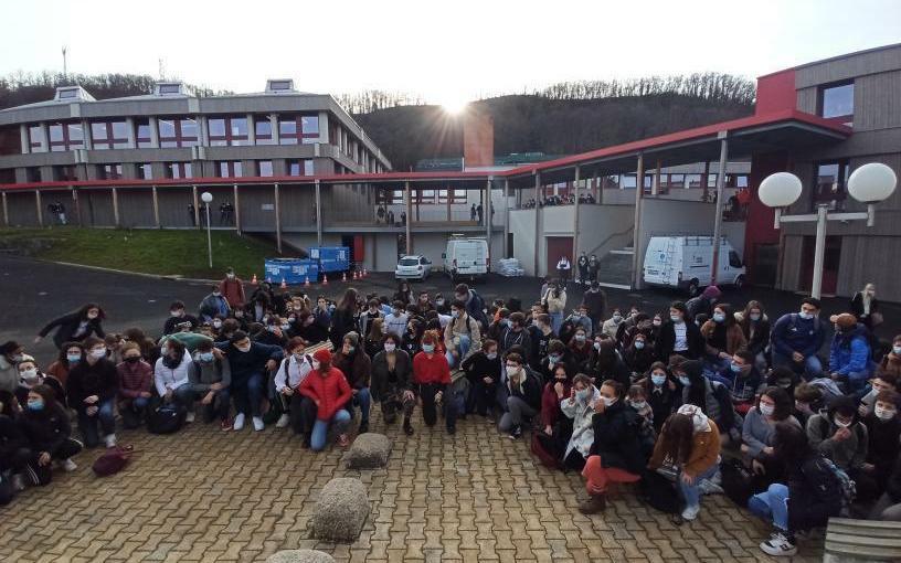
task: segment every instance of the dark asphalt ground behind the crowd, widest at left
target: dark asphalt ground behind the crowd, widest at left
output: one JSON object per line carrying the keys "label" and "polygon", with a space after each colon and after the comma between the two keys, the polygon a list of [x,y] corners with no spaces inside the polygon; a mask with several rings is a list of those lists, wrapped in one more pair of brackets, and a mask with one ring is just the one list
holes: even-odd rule
{"label": "dark asphalt ground behind the crowd, widest at left", "polygon": [[[339,298],[348,286],[361,293],[375,291],[391,295],[396,283],[391,274],[373,274],[364,280],[328,286],[312,286],[310,295],[326,295]],[[414,283],[414,290],[427,289],[434,295],[442,291],[445,297],[453,293],[447,277],[435,275],[425,283]],[[541,282],[537,278],[505,278],[491,275],[473,287],[487,302],[495,298],[518,297],[523,307],[539,298]],[[252,291],[247,287],[247,291]],[[608,306],[628,308],[633,304],[646,311],[662,311],[674,299],[686,299],[683,294],[664,289],[626,291],[605,289]],[[197,307],[209,293],[206,284],[197,282],[159,279],[155,277],[99,272],[77,266],[62,266],[47,262],[17,256],[0,255],[0,342],[17,340],[26,347],[42,364],[50,362],[56,350],[47,338],[39,344],[32,340],[38,331],[51,319],[76,309],[85,302],[98,302],[107,312],[104,328],[123,331],[129,327],[141,327],[149,336],[157,337],[169,314],[169,304],[176,299],[186,302],[189,310]],[[571,284],[568,301],[574,307],[582,299],[582,289]],[[723,301],[743,307],[749,299],[761,300],[771,318],[798,307],[799,295],[765,288],[748,288],[735,293],[725,288]],[[845,310],[848,300],[827,298],[824,300],[824,318]],[[901,333],[901,307],[886,305],[886,323],[878,334],[891,339]]]}

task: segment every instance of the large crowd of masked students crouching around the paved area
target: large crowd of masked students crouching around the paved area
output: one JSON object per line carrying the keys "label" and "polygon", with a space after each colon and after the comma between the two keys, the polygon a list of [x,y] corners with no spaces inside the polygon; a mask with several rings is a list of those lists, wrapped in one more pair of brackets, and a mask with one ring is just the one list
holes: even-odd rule
{"label": "large crowd of masked students crouching around the paved area", "polygon": [[887,350],[872,336],[871,285],[828,322],[816,299],[771,321],[763,304],[736,310],[713,286],[662,311],[608,308],[596,280],[575,308],[564,280],[537,297],[521,310],[465,284],[445,298],[405,282],[338,302],[268,283],[246,296],[229,272],[197,316],[171,304],[157,339],[107,334],[103,308],[85,305],[40,331],[35,341],[55,330],[60,350],[43,371],[24,346],[0,347],[2,480],[20,490],[52,464],[75,470],[83,447],[116,445],[116,413],[129,428],[161,406],[224,432],[250,418],[318,452],[330,434],[348,444],[357,410],[367,432],[375,403],[406,435],[416,408],[448,435],[466,416],[528,433],[541,463],[585,477],[585,513],[604,510],[611,482],[667,478],[683,520],[729,489],[772,521],[771,555],[794,554],[795,533],[842,511],[901,520],[901,336]]}

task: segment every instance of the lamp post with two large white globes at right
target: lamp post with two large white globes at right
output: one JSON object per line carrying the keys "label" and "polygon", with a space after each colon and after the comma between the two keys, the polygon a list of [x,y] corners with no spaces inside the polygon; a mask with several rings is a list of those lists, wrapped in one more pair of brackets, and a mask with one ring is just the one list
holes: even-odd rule
{"label": "lamp post with two large white globes at right", "polygon": [[817,205],[816,213],[803,215],[783,215],[782,209],[797,201],[802,192],[798,177],[791,172],[770,174],[761,182],[757,196],[764,205],[775,209],[774,227],[781,223],[813,223],[817,224],[816,248],[814,251],[814,279],[810,296],[819,299],[823,291],[823,259],[826,251],[827,221],[859,221],[867,220],[867,226],[876,222],[876,204],[884,201],[894,191],[898,178],[894,171],[880,162],[870,162],[859,167],[848,178],[848,192],[854,199],[867,204],[867,211],[830,213],[828,203]]}

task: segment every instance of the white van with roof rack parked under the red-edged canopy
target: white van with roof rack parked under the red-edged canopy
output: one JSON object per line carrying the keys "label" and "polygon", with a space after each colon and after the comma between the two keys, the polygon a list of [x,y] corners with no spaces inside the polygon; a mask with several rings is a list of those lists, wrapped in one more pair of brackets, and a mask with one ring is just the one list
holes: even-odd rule
{"label": "white van with roof rack parked under the red-edged canopy", "polygon": [[[648,285],[687,288],[693,297],[710,285],[712,259],[712,236],[651,236],[645,252],[644,279]],[[725,237],[720,242],[717,268],[718,285],[744,285],[744,263]]]}

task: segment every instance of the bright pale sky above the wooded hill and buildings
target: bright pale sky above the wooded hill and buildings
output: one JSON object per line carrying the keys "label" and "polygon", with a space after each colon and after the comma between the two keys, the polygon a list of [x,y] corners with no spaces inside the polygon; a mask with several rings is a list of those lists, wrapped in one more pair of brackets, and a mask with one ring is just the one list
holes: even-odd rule
{"label": "bright pale sky above the wooded hill and buildings", "polygon": [[159,75],[456,105],[562,81],[748,77],[901,42],[901,0],[4,0],[0,75]]}

